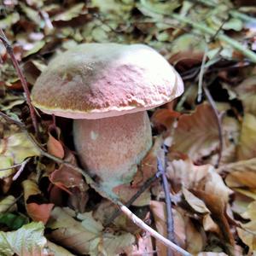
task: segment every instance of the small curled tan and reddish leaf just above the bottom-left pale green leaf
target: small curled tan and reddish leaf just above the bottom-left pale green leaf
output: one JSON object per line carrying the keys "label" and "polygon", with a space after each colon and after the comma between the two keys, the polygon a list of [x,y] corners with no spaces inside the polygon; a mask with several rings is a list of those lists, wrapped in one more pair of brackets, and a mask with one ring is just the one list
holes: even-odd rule
{"label": "small curled tan and reddish leaf just above the bottom-left pale green leaf", "polygon": [[30,218],[34,221],[42,221],[44,224],[47,223],[49,219],[50,212],[52,211],[54,204],[38,204],[36,202],[27,203],[31,195],[40,195],[41,191],[38,189],[38,185],[32,180],[25,180],[22,182],[24,189],[24,199],[26,212]]}

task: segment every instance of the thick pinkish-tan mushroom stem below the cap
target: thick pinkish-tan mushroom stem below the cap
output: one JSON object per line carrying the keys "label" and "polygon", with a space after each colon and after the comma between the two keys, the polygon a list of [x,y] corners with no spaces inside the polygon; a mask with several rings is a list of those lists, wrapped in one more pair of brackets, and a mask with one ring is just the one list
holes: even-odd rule
{"label": "thick pinkish-tan mushroom stem below the cap", "polygon": [[109,188],[131,182],[137,165],[152,146],[146,111],[105,119],[75,119],[73,137],[82,166]]}

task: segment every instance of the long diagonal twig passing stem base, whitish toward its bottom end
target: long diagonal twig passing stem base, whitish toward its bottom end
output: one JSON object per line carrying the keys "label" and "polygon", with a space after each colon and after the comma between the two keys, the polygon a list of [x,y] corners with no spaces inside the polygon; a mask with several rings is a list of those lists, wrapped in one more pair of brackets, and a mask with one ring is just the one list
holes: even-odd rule
{"label": "long diagonal twig passing stem base, whitish toward its bottom end", "polygon": [[[0,112],[1,113],[1,112]],[[6,116],[5,114],[1,114],[3,117]],[[20,122],[17,122],[16,120],[12,120],[10,117],[8,117],[8,120],[11,120],[12,123],[15,124],[20,124]],[[59,163],[61,165],[68,166],[72,168],[74,171],[79,172],[83,175],[83,177],[86,180],[86,183],[90,184],[90,187],[92,189],[95,189],[96,192],[98,192],[100,195],[103,197],[107,198],[109,201],[112,201],[115,205],[117,205],[120,210],[128,217],[131,219],[131,221],[134,224],[137,224],[138,227],[141,229],[145,230],[148,232],[151,236],[154,236],[154,238],[158,239],[161,243],[165,244],[166,247],[171,247],[172,250],[177,251],[178,253],[182,253],[184,256],[190,256],[191,254],[186,252],[183,248],[178,247],[175,243],[172,241],[169,241],[166,239],[164,236],[161,236],[157,231],[153,230],[151,227],[149,227],[147,224],[143,222],[141,218],[138,218],[134,213],[132,213],[127,207],[124,206],[124,204],[119,201],[118,197],[116,195],[109,195],[109,192],[106,191],[102,186],[99,184],[95,183],[95,181],[90,177],[89,174],[87,174],[83,169],[79,168],[79,166],[74,166],[70,162],[67,162],[66,160],[61,160],[58,157],[55,157],[52,154],[47,153],[42,149],[39,145],[38,142],[30,135],[28,131],[26,131],[26,126],[25,125],[19,125],[20,129],[26,133],[26,137],[35,145],[35,147],[38,148],[40,153],[44,155],[45,157],[49,158],[50,160],[54,160],[56,163]]]}

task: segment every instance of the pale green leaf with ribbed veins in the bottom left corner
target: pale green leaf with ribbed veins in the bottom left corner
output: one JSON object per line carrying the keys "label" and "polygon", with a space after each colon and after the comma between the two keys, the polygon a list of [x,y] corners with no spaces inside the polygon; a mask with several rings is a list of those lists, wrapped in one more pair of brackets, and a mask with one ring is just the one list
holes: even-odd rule
{"label": "pale green leaf with ribbed veins in the bottom left corner", "polygon": [[41,222],[26,224],[12,232],[0,231],[0,255],[43,256],[46,244],[44,224]]}

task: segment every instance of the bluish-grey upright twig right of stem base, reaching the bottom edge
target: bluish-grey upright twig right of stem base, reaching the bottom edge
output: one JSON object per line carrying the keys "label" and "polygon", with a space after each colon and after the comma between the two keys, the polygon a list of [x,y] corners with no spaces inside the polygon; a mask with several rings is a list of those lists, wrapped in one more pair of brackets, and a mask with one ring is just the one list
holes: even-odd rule
{"label": "bluish-grey upright twig right of stem base, reaching the bottom edge", "polygon": [[[165,165],[166,166],[166,165]],[[166,223],[167,223],[167,238],[170,241],[175,242],[175,236],[174,236],[174,223],[173,223],[173,216],[172,216],[172,199],[170,196],[170,189],[168,185],[168,181],[166,178],[166,171],[165,167],[162,164],[162,161],[159,157],[157,157],[157,169],[161,173],[162,178],[162,185],[166,196]],[[173,253],[170,250],[170,248],[167,248],[167,255],[172,256]]]}

